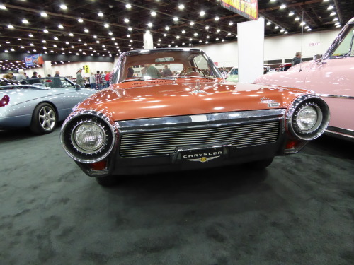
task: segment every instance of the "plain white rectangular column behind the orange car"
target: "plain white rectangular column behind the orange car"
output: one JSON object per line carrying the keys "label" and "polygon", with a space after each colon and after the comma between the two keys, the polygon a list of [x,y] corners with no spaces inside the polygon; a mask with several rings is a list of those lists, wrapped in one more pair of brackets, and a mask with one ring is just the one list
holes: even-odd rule
{"label": "plain white rectangular column behind the orange car", "polygon": [[253,83],[263,74],[264,19],[237,23],[239,82]]}

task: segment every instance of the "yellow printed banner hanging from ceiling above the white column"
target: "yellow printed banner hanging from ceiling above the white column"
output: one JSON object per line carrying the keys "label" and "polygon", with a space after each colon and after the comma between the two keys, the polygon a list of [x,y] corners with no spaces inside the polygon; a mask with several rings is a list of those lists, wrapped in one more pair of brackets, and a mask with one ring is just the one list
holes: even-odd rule
{"label": "yellow printed banner hanging from ceiling above the white column", "polygon": [[245,18],[258,19],[258,0],[221,0],[221,5]]}

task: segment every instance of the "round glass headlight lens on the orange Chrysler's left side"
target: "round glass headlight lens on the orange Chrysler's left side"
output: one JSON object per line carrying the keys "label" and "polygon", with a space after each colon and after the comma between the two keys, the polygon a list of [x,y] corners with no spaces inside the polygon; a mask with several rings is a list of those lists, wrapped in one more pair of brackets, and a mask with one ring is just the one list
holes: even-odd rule
{"label": "round glass headlight lens on the orange Chrysler's left side", "polygon": [[87,122],[74,130],[74,145],[81,151],[97,151],[104,143],[105,131],[98,124]]}

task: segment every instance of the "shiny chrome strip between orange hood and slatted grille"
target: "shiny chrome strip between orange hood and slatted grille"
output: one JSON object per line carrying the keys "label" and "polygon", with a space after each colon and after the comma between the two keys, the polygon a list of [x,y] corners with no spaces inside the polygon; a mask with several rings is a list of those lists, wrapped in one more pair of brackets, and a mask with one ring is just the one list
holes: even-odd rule
{"label": "shiny chrome strip between orange hood and slatted grille", "polygon": [[225,121],[225,120],[239,120],[248,119],[256,120],[264,117],[280,117],[285,115],[284,109],[272,110],[249,110],[244,112],[220,112],[210,114],[195,114],[185,116],[161,117],[151,119],[130,119],[125,121],[115,122],[115,127],[119,129],[133,129],[139,127],[152,127],[152,126],[166,126],[174,124],[190,125],[198,122],[212,122],[212,121]]}

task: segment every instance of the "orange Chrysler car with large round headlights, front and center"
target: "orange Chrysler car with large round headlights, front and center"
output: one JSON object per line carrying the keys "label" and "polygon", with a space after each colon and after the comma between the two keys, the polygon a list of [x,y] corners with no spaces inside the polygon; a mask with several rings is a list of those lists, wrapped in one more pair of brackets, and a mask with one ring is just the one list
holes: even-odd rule
{"label": "orange Chrysler car with large round headlights, front and center", "polygon": [[119,57],[112,85],[74,107],[60,138],[107,186],[119,175],[267,167],[328,124],[311,90],[227,82],[200,49],[143,49]]}

